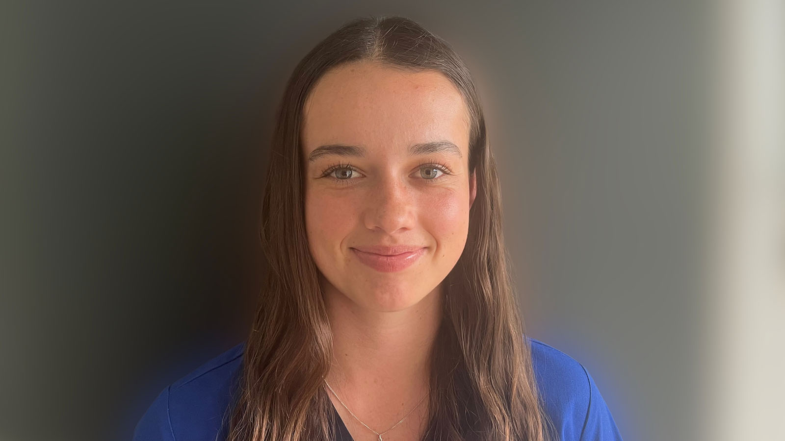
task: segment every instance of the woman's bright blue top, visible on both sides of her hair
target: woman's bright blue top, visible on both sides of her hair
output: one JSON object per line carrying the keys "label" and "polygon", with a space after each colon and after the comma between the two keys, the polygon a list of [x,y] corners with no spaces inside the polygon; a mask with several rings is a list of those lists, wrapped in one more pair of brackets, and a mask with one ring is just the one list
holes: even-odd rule
{"label": "woman's bright blue top, visible on both sides of her hair", "polygon": [[[580,363],[528,337],[539,392],[559,441],[621,441],[611,411]],[[216,441],[226,438],[231,393],[243,366],[237,344],[169,385],[137,424],[133,441]],[[335,411],[338,439],[351,439]],[[341,438],[342,437],[342,438]]]}

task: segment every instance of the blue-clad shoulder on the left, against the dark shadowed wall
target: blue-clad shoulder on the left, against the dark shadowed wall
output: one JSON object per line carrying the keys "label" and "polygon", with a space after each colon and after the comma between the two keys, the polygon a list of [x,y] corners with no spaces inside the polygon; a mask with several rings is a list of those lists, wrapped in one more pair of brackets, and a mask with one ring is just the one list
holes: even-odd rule
{"label": "blue-clad shoulder on the left, against the dark shadowed wall", "polygon": [[137,423],[133,441],[215,441],[243,364],[235,345],[164,388]]}

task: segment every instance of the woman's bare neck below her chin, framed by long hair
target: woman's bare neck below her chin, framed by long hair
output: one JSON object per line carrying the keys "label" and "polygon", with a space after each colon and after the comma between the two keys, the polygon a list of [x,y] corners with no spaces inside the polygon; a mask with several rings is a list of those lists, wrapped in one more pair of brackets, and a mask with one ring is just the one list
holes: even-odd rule
{"label": "woman's bare neck below her chin, framed by long hair", "polygon": [[327,286],[324,298],[333,333],[333,362],[327,375],[330,385],[349,398],[377,393],[407,402],[411,402],[410,395],[420,398],[429,387],[442,297],[441,286],[437,286],[422,301],[402,311],[376,312],[360,308]]}

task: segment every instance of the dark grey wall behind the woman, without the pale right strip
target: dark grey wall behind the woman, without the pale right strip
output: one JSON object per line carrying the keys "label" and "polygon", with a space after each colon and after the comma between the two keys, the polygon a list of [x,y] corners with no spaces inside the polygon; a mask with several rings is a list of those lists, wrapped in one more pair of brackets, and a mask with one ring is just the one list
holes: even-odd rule
{"label": "dark grey wall behind the woman, without the pale right strip", "polygon": [[273,111],[369,14],[482,71],[528,332],[586,366],[625,439],[694,439],[712,8],[5,4],[0,439],[128,439],[243,340]]}

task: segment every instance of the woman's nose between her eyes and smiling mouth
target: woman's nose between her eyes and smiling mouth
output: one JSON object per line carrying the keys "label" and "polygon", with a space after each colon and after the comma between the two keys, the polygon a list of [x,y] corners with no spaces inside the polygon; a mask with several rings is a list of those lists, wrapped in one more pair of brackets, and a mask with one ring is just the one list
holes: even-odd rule
{"label": "woman's nose between her eyes and smiling mouth", "polygon": [[363,212],[363,223],[370,230],[392,235],[414,225],[414,195],[400,178],[380,177],[369,191]]}

